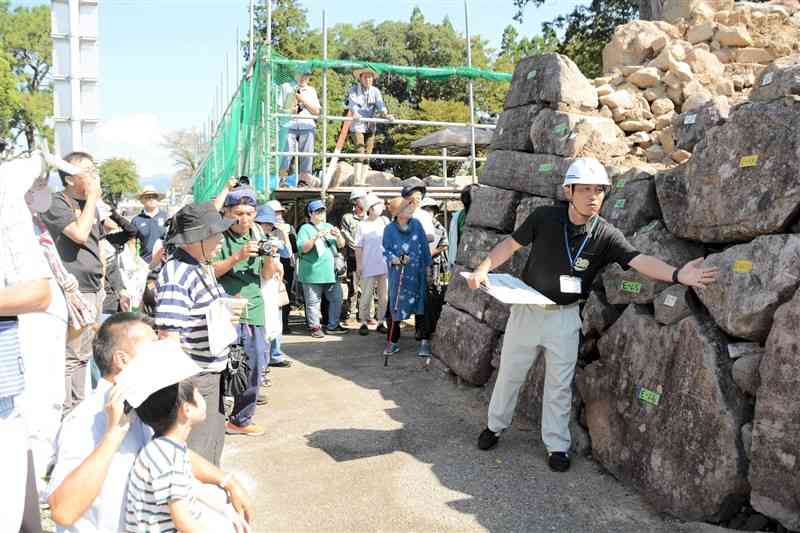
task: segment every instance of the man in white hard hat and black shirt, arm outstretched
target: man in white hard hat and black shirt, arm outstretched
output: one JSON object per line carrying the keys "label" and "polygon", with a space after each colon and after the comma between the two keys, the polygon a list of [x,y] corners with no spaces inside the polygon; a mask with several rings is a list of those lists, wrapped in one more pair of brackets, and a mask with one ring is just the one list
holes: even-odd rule
{"label": "man in white hard hat and black shirt, arm outstretched", "polygon": [[575,160],[563,184],[569,206],[535,209],[511,237],[494,247],[469,280],[473,289],[486,283],[489,271],[533,243],[522,280],[555,302],[511,307],[488,427],[478,439],[481,450],[494,448],[500,433],[511,425],[519,390],[536,362],[536,348],[542,346],[547,363],[542,441],[550,468],[557,472],[569,469],[568,425],[581,328],[579,303],[606,265],[617,263],[652,279],[699,288],[717,277],[718,269],[704,268],[702,257],[675,268],[636,251],[618,229],[598,215],[609,186],[599,161]]}

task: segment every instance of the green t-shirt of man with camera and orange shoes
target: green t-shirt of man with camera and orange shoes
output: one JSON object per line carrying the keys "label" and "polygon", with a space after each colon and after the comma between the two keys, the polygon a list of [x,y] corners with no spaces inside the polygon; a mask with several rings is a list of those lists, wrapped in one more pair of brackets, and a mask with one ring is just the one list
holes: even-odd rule
{"label": "green t-shirt of man with camera and orange shoes", "polygon": [[[222,235],[222,250],[214,261],[221,261],[234,255],[239,249],[255,236],[239,235],[228,230]],[[261,267],[264,257],[251,257],[247,261],[239,261],[233,268],[225,273],[219,280],[225,292],[231,296],[247,298],[247,312],[242,313],[241,322],[253,326],[263,326],[264,322],[264,297],[261,293]]]}

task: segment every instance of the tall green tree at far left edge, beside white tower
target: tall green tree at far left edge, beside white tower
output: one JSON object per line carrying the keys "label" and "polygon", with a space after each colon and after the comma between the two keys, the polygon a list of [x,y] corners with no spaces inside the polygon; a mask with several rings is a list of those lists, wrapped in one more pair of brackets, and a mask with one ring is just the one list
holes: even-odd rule
{"label": "tall green tree at far left edge, beside white tower", "polygon": [[[7,133],[15,140],[24,136],[28,148],[33,148],[37,130],[52,135],[44,125],[45,118],[53,114],[48,84],[53,55],[50,24],[50,8],[46,6],[18,7],[9,12],[7,3],[0,2],[0,57],[5,55],[9,62],[17,93]],[[0,79],[2,70],[0,66]]]}

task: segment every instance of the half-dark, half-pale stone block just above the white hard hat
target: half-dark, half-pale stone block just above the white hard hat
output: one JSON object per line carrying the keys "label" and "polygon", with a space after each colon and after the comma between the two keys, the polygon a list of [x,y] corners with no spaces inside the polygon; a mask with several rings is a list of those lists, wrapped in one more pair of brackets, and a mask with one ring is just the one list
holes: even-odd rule
{"label": "half-dark, half-pale stone block just above the white hard hat", "polygon": [[608,160],[628,153],[625,134],[610,118],[543,109],[531,126],[533,151]]}

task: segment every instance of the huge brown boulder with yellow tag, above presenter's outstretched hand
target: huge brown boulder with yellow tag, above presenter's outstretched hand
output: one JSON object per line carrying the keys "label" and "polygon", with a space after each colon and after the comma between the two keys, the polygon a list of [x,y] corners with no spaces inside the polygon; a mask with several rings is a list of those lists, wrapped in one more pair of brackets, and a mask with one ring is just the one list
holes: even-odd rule
{"label": "huge brown boulder with yellow tag, above presenter's outstretched hand", "polygon": [[667,227],[702,242],[782,232],[800,204],[800,102],[750,103],[656,176]]}

